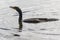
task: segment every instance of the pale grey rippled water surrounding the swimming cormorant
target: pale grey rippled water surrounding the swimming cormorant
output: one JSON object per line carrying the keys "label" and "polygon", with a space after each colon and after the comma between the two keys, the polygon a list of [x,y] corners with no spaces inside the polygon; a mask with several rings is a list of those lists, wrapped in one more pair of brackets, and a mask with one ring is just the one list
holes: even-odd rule
{"label": "pale grey rippled water surrounding the swimming cormorant", "polygon": [[[60,0],[0,0],[0,40],[59,40],[60,21],[28,24],[18,32],[18,13],[9,6],[19,6],[23,20],[28,18],[60,19]],[[3,3],[3,4],[2,4]],[[20,36],[14,36],[18,34]]]}

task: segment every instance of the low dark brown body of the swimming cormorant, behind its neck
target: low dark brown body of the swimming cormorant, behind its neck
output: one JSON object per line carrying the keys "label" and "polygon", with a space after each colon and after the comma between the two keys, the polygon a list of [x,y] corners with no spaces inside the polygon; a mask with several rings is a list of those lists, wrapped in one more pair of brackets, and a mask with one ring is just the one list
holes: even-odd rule
{"label": "low dark brown body of the swimming cormorant, behind its neck", "polygon": [[23,22],[25,23],[40,23],[40,22],[50,22],[50,21],[57,21],[58,19],[55,18],[29,18],[29,19],[25,19],[23,20]]}

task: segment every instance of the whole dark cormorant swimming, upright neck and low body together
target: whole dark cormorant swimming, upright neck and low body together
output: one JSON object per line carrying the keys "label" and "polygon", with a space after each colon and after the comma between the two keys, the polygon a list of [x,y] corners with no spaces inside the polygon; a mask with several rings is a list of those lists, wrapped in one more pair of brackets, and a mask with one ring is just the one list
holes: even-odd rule
{"label": "whole dark cormorant swimming, upright neck and low body together", "polygon": [[[19,29],[22,29],[22,11],[19,7],[17,6],[10,6],[10,8],[15,9],[19,13]],[[26,23],[40,23],[40,22],[49,22],[49,21],[57,21],[58,19],[55,18],[30,18],[30,19],[25,19],[23,22]]]}

